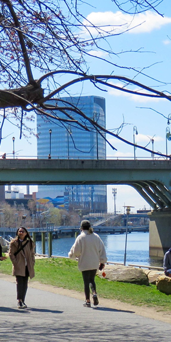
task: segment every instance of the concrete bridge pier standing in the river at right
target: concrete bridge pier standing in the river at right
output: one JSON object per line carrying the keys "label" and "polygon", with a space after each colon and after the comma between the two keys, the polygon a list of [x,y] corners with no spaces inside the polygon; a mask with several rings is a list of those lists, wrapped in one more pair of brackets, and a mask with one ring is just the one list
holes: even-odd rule
{"label": "concrete bridge pier standing in the river at right", "polygon": [[163,258],[171,247],[171,209],[148,213],[149,256]]}

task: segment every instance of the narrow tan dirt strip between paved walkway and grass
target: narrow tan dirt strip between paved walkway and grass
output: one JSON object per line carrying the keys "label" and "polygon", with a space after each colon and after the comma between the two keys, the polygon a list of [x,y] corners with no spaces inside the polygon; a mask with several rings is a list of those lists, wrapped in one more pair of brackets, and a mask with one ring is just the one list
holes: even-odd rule
{"label": "narrow tan dirt strip between paved walkway and grass", "polygon": [[[0,273],[0,279],[14,282],[15,283],[15,277],[11,275],[6,275],[3,273]],[[38,281],[29,281],[28,286],[31,288],[48,291],[52,293],[62,294],[71,298],[76,298],[84,301],[84,293],[83,292],[77,292],[75,290],[68,290],[63,289],[60,287],[55,287],[53,285],[45,285],[41,284]],[[160,311],[156,307],[146,307],[146,306],[136,306],[131,305],[127,303],[120,302],[118,300],[111,300],[106,298],[98,297],[100,305],[104,307],[109,307],[118,311],[126,311],[126,312],[132,312],[136,315],[140,315],[143,317],[152,318],[155,320],[159,320],[165,323],[171,324],[171,311]]]}

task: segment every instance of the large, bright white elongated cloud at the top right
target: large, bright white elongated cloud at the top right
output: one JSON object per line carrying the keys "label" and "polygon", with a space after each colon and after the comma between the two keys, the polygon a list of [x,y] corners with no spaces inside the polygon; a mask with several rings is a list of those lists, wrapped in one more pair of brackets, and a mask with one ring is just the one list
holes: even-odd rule
{"label": "large, bright white elongated cloud at the top right", "polygon": [[[104,26],[104,31],[114,31],[119,34],[125,30],[129,30],[130,34],[137,34],[143,32],[151,32],[155,29],[160,29],[164,25],[171,23],[171,18],[162,17],[157,13],[148,11],[139,13],[135,16],[131,14],[124,14],[120,11],[113,13],[109,12],[92,12],[87,16],[87,21],[84,24],[90,26],[90,23],[95,26]],[[90,28],[91,34],[96,34],[94,28]]]}

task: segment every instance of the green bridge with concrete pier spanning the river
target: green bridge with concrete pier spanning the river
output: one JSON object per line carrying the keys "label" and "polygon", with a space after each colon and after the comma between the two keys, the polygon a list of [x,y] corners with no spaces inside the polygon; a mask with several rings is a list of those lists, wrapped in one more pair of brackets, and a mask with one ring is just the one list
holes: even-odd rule
{"label": "green bridge with concrete pier spanning the river", "polygon": [[150,255],[163,257],[171,246],[171,160],[2,159],[0,185],[8,184],[130,185],[155,209]]}

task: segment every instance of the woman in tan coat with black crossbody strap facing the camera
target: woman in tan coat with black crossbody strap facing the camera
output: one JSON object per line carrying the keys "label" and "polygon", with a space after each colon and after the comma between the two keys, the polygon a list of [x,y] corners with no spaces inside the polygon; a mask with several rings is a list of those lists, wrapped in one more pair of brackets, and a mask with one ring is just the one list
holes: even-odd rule
{"label": "woman in tan coat with black crossbody strap facing the camera", "polygon": [[35,276],[35,245],[27,229],[17,229],[16,237],[11,241],[9,257],[12,261],[12,275],[16,277],[17,307],[25,308],[25,296],[28,287],[28,277]]}

